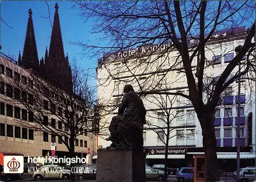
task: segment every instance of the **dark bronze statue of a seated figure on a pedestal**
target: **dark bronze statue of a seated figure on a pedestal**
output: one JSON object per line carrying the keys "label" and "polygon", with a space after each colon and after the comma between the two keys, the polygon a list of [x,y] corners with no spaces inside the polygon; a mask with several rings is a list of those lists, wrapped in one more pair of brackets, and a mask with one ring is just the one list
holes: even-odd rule
{"label": "dark bronze statue of a seated figure on a pedestal", "polygon": [[118,115],[112,118],[109,126],[112,141],[110,148],[130,148],[143,151],[143,125],[146,109],[140,97],[134,92],[132,85],[125,85],[124,96],[118,109]]}

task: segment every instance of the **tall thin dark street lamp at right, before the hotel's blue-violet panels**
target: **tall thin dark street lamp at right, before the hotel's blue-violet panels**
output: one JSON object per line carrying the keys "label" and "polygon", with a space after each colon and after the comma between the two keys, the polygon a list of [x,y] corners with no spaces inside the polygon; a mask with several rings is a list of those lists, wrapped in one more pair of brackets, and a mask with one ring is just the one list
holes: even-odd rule
{"label": "tall thin dark street lamp at right, before the hotel's blue-violet panels", "polygon": [[[242,45],[238,45],[234,49],[236,54],[239,53],[239,51],[243,48]],[[241,61],[239,60],[238,63],[238,74],[240,75],[241,72]],[[240,90],[241,90],[241,79],[240,77],[238,78],[238,128],[237,128],[237,181],[240,181]]]}

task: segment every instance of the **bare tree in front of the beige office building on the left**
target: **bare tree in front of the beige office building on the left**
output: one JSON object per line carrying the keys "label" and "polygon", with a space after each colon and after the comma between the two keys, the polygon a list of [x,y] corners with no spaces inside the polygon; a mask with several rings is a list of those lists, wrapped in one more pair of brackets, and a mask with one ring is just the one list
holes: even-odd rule
{"label": "bare tree in front of the beige office building on the left", "polygon": [[[87,72],[79,65],[73,65],[70,90],[57,87],[52,78],[45,77],[39,71],[23,69],[9,60],[4,61],[6,67],[12,70],[11,75],[8,71],[6,75],[1,74],[1,81],[6,84],[7,97],[4,99],[15,106],[17,124],[39,133],[52,134],[55,140],[58,137],[71,157],[75,156],[75,142],[79,135],[88,135],[93,139],[99,133],[95,87],[88,84]],[[23,110],[23,120],[20,119],[20,109]],[[71,174],[71,179],[74,179],[74,174]]]}

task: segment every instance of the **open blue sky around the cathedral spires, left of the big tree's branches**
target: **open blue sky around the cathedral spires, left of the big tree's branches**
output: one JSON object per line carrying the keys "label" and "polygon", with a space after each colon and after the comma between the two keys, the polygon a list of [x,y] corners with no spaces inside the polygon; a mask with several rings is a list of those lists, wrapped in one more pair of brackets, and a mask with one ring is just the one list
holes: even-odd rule
{"label": "open blue sky around the cathedral spires, left of the big tree's branches", "polygon": [[[93,39],[93,37],[90,37],[92,35],[88,33],[91,21],[87,22],[87,25],[82,25],[82,20],[77,16],[77,10],[71,10],[72,3],[69,1],[48,1],[52,24],[55,3],[59,5],[60,27],[65,54],[68,53],[70,60],[75,56],[84,68],[96,67],[97,60],[95,58],[82,57],[79,55],[81,49],[69,43],[77,39]],[[1,52],[6,55],[15,55],[16,61],[18,60],[19,51],[21,54],[23,53],[29,8],[33,12],[32,18],[39,59],[45,57],[46,46],[49,50],[52,28],[49,18],[43,18],[49,16],[45,1],[1,1],[1,17],[10,27],[13,27],[11,29],[1,22]]]}

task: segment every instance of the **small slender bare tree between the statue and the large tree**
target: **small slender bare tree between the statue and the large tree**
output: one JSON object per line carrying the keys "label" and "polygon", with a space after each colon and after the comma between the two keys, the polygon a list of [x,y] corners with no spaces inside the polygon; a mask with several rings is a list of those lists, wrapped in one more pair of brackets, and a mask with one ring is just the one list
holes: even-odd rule
{"label": "small slender bare tree between the statue and the large tree", "polygon": [[[183,140],[187,138],[188,140],[195,135],[195,129],[189,129],[189,132],[182,130],[195,126],[195,111],[189,110],[191,112],[188,112],[186,110],[185,113],[184,107],[189,106],[189,104],[177,96],[148,95],[145,100],[152,105],[150,109],[153,110],[147,111],[147,126],[145,128],[153,130],[157,134],[158,142],[164,145],[164,181],[167,181],[169,140],[175,137]],[[157,110],[155,110],[156,108]],[[184,119],[185,116],[186,120]]]}

